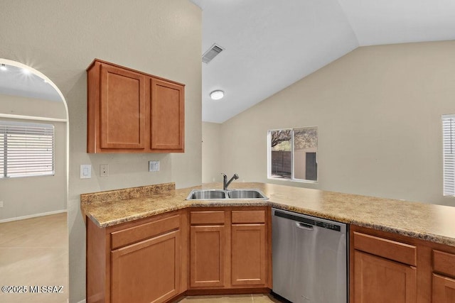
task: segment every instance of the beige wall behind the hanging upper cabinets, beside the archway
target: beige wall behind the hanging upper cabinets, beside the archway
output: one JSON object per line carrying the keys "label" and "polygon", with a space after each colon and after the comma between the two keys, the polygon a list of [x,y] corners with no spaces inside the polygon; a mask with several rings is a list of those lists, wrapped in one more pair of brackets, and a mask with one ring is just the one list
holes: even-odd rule
{"label": "beige wall behind the hanging upper cabinets, beside the archway", "polygon": [[[80,194],[176,182],[200,184],[201,11],[188,0],[0,0],[0,57],[48,76],[68,102],[70,160],[68,220],[70,302],[85,298],[85,224]],[[87,77],[97,57],[186,84],[186,152],[183,154],[87,154]],[[161,160],[149,173],[148,161]],[[80,180],[81,164],[92,179]],[[109,177],[99,165],[109,164]]]}

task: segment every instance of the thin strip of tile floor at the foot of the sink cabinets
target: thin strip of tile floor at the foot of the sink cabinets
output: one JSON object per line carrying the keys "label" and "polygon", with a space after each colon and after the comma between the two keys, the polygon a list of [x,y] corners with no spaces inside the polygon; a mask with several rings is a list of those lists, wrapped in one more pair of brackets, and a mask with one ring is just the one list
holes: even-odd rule
{"label": "thin strip of tile floor at the foot of the sink cabinets", "polygon": [[267,303],[281,301],[267,294],[222,294],[219,296],[189,296],[181,299],[178,303]]}

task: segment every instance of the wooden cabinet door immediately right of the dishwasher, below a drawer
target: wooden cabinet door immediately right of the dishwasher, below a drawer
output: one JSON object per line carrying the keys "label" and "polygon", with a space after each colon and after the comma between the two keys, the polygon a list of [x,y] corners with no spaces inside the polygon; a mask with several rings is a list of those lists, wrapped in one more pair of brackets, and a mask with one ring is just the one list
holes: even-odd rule
{"label": "wooden cabinet door immediately right of the dishwasher, below a drawer", "polygon": [[414,303],[416,268],[375,255],[354,252],[355,303]]}

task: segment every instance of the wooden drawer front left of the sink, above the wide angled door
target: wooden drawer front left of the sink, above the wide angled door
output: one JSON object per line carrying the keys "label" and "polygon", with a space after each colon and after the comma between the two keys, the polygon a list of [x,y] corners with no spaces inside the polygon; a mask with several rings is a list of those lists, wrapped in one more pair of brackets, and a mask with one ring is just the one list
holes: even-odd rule
{"label": "wooden drawer front left of the sink, above the wide angled door", "polygon": [[172,231],[180,226],[180,216],[171,216],[165,219],[141,224],[131,228],[123,229],[122,231],[114,231],[111,233],[111,248],[119,248],[126,246],[129,243],[135,243],[146,238]]}

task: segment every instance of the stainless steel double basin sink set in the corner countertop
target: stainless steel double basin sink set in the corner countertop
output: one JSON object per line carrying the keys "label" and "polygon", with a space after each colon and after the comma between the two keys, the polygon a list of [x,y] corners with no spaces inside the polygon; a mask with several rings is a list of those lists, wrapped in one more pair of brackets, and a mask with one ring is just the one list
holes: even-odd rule
{"label": "stainless steel double basin sink set in the corner countertop", "polygon": [[259,189],[193,189],[187,200],[255,199],[267,200]]}

